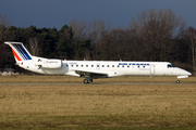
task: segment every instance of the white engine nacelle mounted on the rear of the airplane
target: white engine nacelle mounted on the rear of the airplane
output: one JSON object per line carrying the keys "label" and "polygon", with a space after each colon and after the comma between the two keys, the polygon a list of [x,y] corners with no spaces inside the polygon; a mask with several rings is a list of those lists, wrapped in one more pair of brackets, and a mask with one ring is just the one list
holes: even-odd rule
{"label": "white engine nacelle mounted on the rear of the airplane", "polygon": [[39,68],[61,68],[62,61],[61,60],[40,60],[36,64]]}

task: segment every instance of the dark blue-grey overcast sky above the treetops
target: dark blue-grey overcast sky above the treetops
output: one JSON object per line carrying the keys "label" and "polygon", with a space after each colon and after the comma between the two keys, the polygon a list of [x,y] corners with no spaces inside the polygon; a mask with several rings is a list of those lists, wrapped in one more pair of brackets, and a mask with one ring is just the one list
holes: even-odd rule
{"label": "dark blue-grey overcast sky above the treetops", "polygon": [[103,20],[113,28],[127,27],[142,11],[168,8],[196,27],[196,0],[0,0],[0,14],[12,26],[57,29],[73,20]]}

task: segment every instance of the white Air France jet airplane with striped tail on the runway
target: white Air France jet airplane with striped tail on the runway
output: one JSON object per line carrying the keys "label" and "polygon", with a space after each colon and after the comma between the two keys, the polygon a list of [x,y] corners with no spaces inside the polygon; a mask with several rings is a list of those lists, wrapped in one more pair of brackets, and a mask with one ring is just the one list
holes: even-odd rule
{"label": "white Air France jet airplane with striped tail on the runway", "polygon": [[84,83],[97,78],[118,76],[176,76],[187,78],[191,73],[169,62],[122,62],[122,61],[66,61],[33,56],[22,42],[4,42],[12,49],[16,65],[27,70],[47,75],[84,77]]}

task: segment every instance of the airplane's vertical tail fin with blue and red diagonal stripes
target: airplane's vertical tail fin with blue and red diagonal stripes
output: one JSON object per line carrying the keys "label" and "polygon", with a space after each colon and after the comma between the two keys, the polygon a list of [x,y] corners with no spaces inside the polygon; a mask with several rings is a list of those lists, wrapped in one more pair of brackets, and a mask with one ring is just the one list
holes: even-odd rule
{"label": "airplane's vertical tail fin with blue and red diagonal stripes", "polygon": [[32,55],[28,53],[22,42],[7,41],[4,43],[11,47],[16,62],[32,60]]}

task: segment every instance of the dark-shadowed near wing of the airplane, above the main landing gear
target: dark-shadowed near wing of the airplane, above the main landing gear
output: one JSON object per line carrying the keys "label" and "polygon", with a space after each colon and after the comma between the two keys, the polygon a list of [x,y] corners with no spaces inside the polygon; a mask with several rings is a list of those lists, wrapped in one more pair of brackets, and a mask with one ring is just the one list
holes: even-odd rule
{"label": "dark-shadowed near wing of the airplane, above the main landing gear", "polygon": [[91,70],[75,70],[81,77],[90,77],[90,78],[107,78],[108,74],[105,72],[91,72]]}

